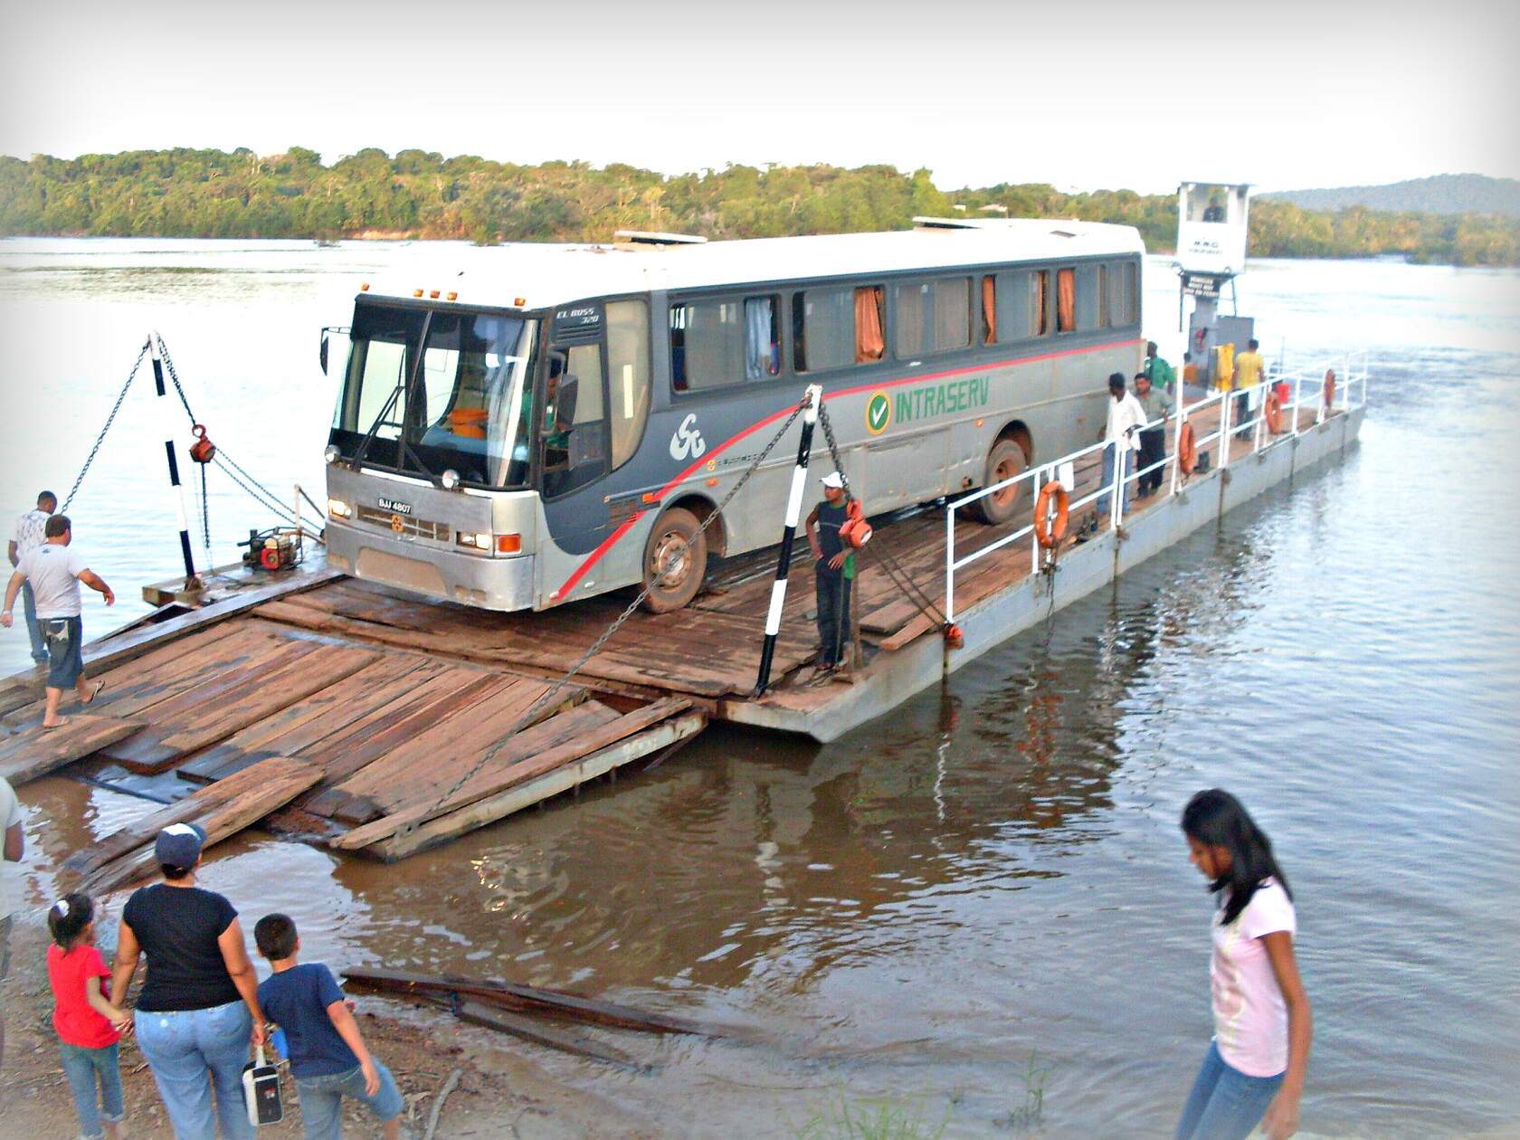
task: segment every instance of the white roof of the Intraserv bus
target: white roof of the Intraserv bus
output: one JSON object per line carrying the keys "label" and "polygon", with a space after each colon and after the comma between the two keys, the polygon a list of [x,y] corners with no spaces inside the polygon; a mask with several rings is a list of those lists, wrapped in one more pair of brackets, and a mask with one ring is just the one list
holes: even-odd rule
{"label": "white roof of the Intraserv bus", "polygon": [[[521,243],[462,249],[388,275],[371,296],[454,293],[458,304],[546,309],[593,296],[710,289],[999,261],[1143,254],[1134,226],[1050,219],[920,219],[926,228],[687,245]],[[421,292],[418,292],[421,290]]]}

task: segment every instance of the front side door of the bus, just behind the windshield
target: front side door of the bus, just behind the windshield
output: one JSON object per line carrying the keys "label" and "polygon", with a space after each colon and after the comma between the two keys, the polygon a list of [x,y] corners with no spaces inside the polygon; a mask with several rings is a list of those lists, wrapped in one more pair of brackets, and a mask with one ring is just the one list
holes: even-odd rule
{"label": "front side door of the bus, just behind the windshield", "polygon": [[[608,471],[606,354],[600,310],[591,328],[559,331],[550,342],[538,416],[538,477],[549,523],[549,544],[538,558],[540,596],[555,591],[582,556],[606,538]],[[561,600],[561,599],[555,599]]]}

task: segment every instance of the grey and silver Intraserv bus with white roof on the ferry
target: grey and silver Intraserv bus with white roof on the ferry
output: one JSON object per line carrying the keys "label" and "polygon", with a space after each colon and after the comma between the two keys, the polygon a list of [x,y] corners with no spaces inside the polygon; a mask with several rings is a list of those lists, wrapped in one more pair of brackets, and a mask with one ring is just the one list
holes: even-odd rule
{"label": "grey and silver Intraserv bus with white roof on the ferry", "polygon": [[[800,424],[704,520],[809,385],[872,515],[1093,442],[1108,375],[1142,363],[1138,233],[915,222],[499,246],[360,286],[325,451],[328,565],[486,610],[629,585],[678,610],[711,556],[780,541]],[[324,369],[327,353],[324,331]],[[1018,491],[979,506],[1006,521]]]}

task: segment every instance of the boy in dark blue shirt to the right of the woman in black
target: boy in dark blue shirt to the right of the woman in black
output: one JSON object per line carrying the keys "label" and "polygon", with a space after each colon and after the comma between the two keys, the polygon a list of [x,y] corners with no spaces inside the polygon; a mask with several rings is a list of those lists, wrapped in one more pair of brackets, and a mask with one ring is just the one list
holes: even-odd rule
{"label": "boy in dark blue shirt to the right of the woman in black", "polygon": [[365,1047],[333,971],[295,961],[301,938],[289,915],[260,918],[254,942],[274,970],[258,985],[258,1008],[284,1031],[306,1140],[342,1137],[345,1096],[363,1100],[383,1122],[385,1140],[398,1140],[406,1102],[391,1070]]}

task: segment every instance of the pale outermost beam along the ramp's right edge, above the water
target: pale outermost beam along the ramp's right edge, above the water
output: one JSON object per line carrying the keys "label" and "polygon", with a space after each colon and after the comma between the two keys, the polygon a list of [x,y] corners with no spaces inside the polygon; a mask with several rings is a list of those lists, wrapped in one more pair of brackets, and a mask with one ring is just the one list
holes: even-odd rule
{"label": "pale outermost beam along the ramp's right edge, above the water", "polygon": [[398,831],[389,839],[363,848],[360,854],[385,862],[395,862],[430,847],[438,847],[467,831],[474,831],[497,819],[505,819],[524,807],[568,792],[572,787],[614,768],[655,752],[664,754],[670,748],[679,746],[695,737],[705,725],[707,713],[704,711],[670,717],[654,728],[646,728],[643,733],[637,733],[610,748],[597,749],[568,765],[561,765],[555,771],[517,784],[506,792],[476,800],[468,807],[430,819],[410,831]]}

